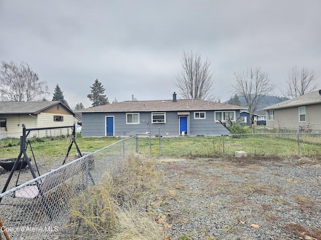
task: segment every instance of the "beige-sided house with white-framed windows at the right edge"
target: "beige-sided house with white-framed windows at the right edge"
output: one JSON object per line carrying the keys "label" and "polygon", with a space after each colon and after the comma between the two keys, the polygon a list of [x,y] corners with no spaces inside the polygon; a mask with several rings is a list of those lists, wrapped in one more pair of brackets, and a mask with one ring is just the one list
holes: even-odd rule
{"label": "beige-sided house with white-framed windows at the right edge", "polygon": [[264,107],[270,128],[321,130],[321,90]]}

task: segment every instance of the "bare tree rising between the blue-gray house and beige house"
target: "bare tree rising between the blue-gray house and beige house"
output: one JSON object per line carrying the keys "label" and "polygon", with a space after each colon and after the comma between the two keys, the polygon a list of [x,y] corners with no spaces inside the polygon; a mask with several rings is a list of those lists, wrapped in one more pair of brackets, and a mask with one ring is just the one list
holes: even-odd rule
{"label": "bare tree rising between the blue-gray house and beige house", "polygon": [[[244,97],[250,119],[252,119],[260,100],[270,94],[275,86],[272,84],[269,74],[263,71],[260,66],[234,71],[233,80],[233,90],[235,94]],[[252,121],[250,124],[252,125]]]}

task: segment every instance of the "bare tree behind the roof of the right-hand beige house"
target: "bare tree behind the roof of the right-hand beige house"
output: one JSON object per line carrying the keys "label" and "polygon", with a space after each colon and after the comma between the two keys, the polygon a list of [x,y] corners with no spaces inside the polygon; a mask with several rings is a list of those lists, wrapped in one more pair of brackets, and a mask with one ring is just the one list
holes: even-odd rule
{"label": "bare tree behind the roof of the right-hand beige house", "polygon": [[287,88],[282,91],[282,94],[288,98],[298,97],[318,87],[314,70],[309,70],[305,67],[299,70],[296,65],[289,70],[286,84]]}

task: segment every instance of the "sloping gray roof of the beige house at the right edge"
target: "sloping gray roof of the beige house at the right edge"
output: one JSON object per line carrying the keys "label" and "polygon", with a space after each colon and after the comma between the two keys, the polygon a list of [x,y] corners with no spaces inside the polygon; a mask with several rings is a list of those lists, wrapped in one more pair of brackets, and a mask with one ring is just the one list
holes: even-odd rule
{"label": "sloping gray roof of the beige house at the right edge", "polygon": [[288,108],[288,107],[294,107],[294,106],[303,106],[303,105],[312,105],[312,104],[318,104],[321,103],[321,95],[319,93],[319,90],[312,91],[309,93],[305,93],[301,96],[282,101],[279,103],[276,103],[271,106],[267,106],[262,108],[262,110],[270,110],[270,109],[280,109],[280,108]]}

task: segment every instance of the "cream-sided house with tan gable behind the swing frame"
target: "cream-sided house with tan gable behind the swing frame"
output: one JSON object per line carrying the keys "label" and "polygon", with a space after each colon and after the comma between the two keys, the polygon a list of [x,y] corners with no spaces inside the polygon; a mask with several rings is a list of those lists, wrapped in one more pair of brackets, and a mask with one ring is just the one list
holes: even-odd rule
{"label": "cream-sided house with tan gable behind the swing frame", "polygon": [[[74,124],[74,116],[75,113],[61,101],[0,101],[0,138],[19,138],[22,135],[22,124],[26,128],[71,126]],[[60,133],[63,132],[38,131],[32,136]]]}

